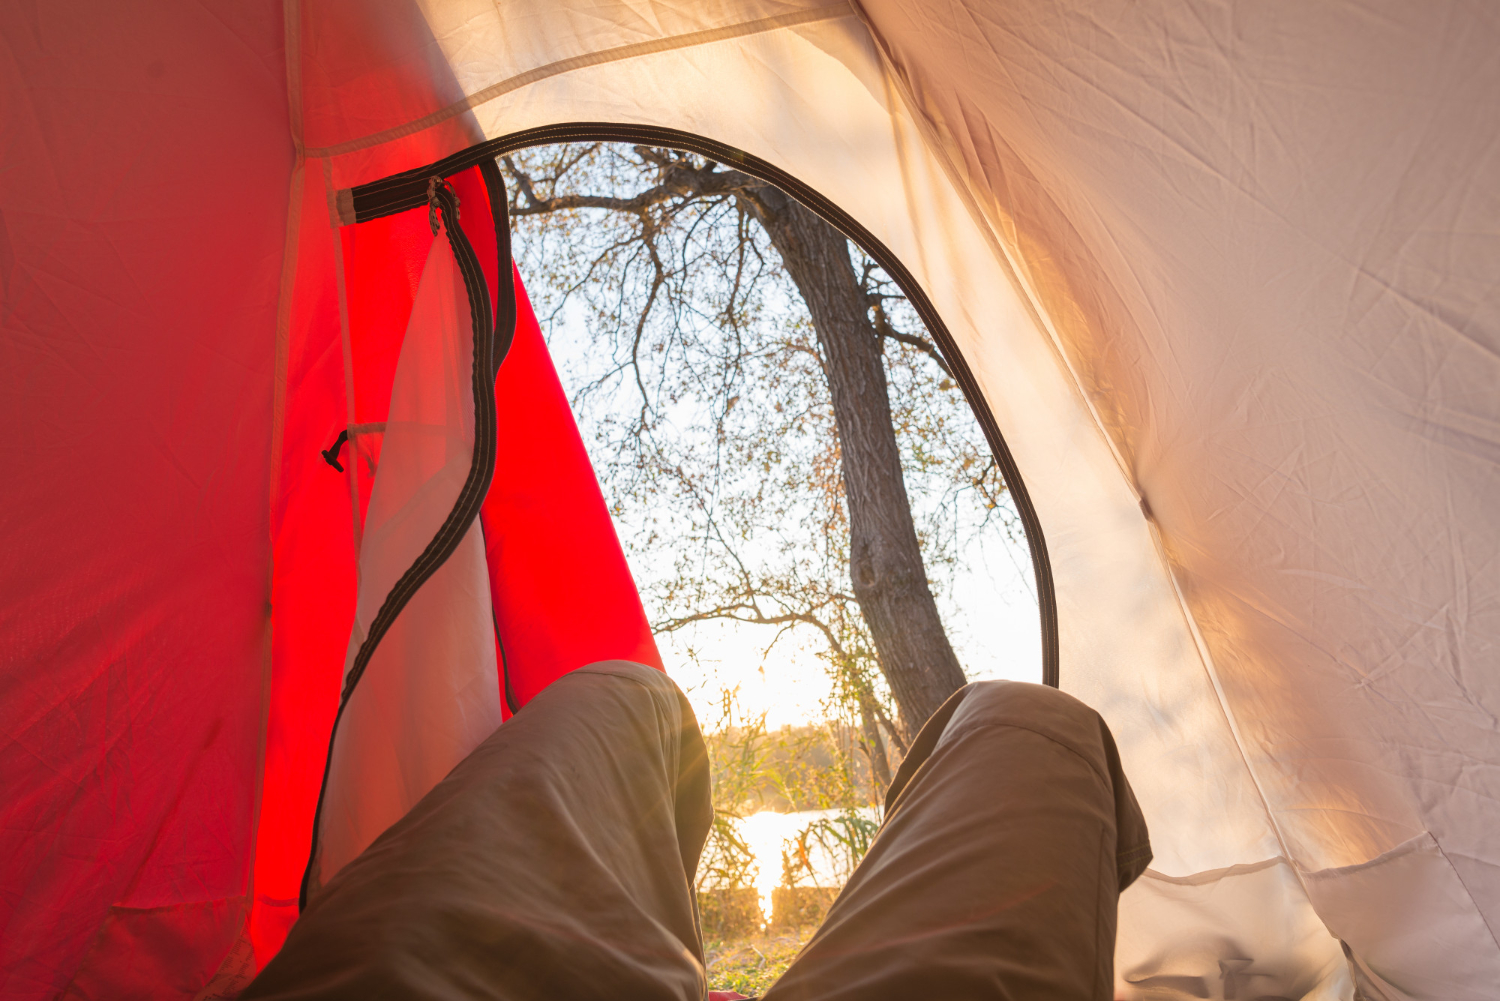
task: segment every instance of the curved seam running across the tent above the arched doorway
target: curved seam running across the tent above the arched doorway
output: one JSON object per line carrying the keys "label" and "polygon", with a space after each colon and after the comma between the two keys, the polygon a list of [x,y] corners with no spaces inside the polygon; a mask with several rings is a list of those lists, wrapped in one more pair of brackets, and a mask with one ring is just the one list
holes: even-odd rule
{"label": "curved seam running across the tent above the arched doorway", "polygon": [[573,72],[574,69],[585,69],[590,66],[600,66],[603,63],[616,63],[626,59],[634,59],[638,56],[652,56],[656,53],[666,53],[676,48],[694,48],[698,45],[708,45],[710,42],[722,42],[730,38],[744,38],[747,35],[760,35],[765,32],[774,32],[784,27],[796,27],[801,24],[812,24],[814,21],[831,21],[842,17],[854,17],[854,9],[846,0],[840,3],[812,8],[808,11],[798,11],[795,14],[777,14],[766,18],[758,18],[754,21],[741,21],[740,24],[728,24],[717,29],[704,29],[702,32],[687,32],[684,35],[669,35],[666,38],[652,39],[650,42],[632,42],[630,45],[616,45],[614,48],[600,50],[597,53],[584,53],[580,56],[572,56],[568,59],[560,59],[552,63],[544,63],[534,69],[507,77],[500,83],[490,84],[483,90],[477,90],[472,95],[465,96],[460,101],[426,114],[420,119],[414,119],[405,125],[398,125],[394,128],[386,129],[382,132],[375,132],[358,140],[350,140],[348,143],[339,143],[336,146],[322,146],[308,150],[309,156],[340,156],[344,153],[354,153],[357,150],[369,149],[372,146],[380,146],[392,140],[399,140],[406,135],[414,135],[423,129],[429,129],[435,125],[454,119],[465,111],[472,111],[482,104],[488,104],[495,98],[501,98],[513,90],[520,90],[530,84],[534,84],[550,77],[560,77],[562,74]]}

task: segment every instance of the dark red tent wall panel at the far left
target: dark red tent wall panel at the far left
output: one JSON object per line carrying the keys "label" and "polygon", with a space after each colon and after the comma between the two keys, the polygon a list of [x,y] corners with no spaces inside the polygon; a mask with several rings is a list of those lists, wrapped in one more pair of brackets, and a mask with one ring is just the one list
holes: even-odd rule
{"label": "dark red tent wall panel at the far left", "polygon": [[192,996],[255,851],[280,9],[0,36],[0,995]]}

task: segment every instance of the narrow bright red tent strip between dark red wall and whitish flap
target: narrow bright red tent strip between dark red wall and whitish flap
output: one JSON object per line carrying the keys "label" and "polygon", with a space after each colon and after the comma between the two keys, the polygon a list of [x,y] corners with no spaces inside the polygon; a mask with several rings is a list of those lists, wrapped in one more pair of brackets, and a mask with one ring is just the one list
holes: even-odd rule
{"label": "narrow bright red tent strip between dark red wall and whitish flap", "polygon": [[276,330],[278,476],[272,483],[270,525],[274,627],[250,920],[260,965],[276,954],[297,918],[297,893],[354,621],[358,564],[348,482],[332,476],[321,455],[338,429],[352,422],[345,395],[334,230],[316,162],[304,164],[294,176],[286,230],[294,281],[284,290]]}

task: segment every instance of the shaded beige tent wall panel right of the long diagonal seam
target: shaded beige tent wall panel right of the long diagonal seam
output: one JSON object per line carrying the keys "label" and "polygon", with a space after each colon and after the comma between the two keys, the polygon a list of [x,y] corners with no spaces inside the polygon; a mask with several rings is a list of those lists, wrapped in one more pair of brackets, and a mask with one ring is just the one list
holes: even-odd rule
{"label": "shaded beige tent wall panel right of the long diagonal seam", "polygon": [[1318,911],[1396,989],[1488,995],[1496,9],[867,11],[1142,494]]}

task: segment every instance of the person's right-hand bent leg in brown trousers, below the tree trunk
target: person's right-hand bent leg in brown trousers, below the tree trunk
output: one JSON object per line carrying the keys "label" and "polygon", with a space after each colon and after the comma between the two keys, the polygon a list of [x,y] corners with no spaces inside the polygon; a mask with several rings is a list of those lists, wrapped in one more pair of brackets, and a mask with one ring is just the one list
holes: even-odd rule
{"label": "person's right-hand bent leg in brown trousers, below the tree trunk", "polygon": [[885,824],[765,1001],[1096,1001],[1146,824],[1098,713],[981,681],[922,728]]}

